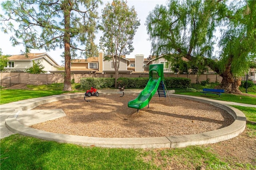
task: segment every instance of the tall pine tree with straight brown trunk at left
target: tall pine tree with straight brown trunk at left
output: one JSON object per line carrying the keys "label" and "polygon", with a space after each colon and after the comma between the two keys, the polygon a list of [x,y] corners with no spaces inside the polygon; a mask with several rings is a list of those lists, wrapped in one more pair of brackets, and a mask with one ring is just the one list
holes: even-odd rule
{"label": "tall pine tree with straight brown trunk at left", "polygon": [[[70,59],[76,51],[87,49],[88,37],[94,38],[98,3],[100,0],[7,0],[2,3],[6,17],[0,16],[2,30],[14,32],[13,45],[46,51],[64,47],[64,91],[72,91]],[[15,24],[18,23],[18,28]],[[92,41],[91,41],[92,42]],[[79,44],[77,44],[79,43]]]}

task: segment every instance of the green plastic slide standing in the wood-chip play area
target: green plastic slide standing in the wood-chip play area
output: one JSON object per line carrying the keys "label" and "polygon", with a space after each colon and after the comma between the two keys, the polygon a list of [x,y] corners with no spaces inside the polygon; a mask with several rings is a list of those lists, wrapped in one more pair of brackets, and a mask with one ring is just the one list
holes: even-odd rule
{"label": "green plastic slide standing in the wood-chip play area", "polygon": [[150,102],[156,93],[158,86],[163,81],[163,64],[153,64],[149,67],[149,81],[146,87],[140,92],[138,97],[128,102],[128,107],[134,109],[142,109]]}

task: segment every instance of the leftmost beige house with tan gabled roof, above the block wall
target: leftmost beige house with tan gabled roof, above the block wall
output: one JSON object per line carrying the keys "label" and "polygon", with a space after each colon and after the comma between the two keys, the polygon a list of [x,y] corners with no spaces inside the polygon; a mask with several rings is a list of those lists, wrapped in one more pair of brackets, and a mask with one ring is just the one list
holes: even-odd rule
{"label": "leftmost beige house with tan gabled roof, above the block wall", "polygon": [[50,55],[47,53],[28,53],[28,56],[25,54],[12,55],[10,56],[6,71],[25,71],[26,69],[33,66],[33,61],[40,63],[44,66],[44,71],[49,73],[49,71],[54,71],[60,68],[60,65]]}

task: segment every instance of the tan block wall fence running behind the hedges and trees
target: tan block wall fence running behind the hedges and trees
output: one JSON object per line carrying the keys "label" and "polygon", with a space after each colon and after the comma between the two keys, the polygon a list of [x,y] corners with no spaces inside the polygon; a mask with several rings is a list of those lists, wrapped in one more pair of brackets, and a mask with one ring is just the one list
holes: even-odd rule
{"label": "tan block wall fence running behind the hedges and trees", "polygon": [[[43,84],[52,84],[52,83],[63,83],[64,82],[64,73],[58,74],[30,74],[30,73],[0,73],[0,79],[5,79],[14,75],[20,75],[21,84],[31,84],[31,85],[43,85]],[[71,79],[74,79],[75,83],[80,83],[81,78],[86,77],[114,77],[114,73],[71,73]],[[131,74],[118,74],[118,77],[148,77],[148,73],[131,73]],[[183,77],[191,79],[191,83],[200,83],[200,81],[205,81],[209,79],[210,82],[221,82],[222,77],[218,74],[173,74],[173,73],[164,73],[164,77]]]}

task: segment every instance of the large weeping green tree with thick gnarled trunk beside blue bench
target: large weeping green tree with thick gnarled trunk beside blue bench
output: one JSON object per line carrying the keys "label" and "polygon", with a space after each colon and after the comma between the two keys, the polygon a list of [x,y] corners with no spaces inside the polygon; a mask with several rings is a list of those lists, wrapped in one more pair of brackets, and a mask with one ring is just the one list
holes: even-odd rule
{"label": "large weeping green tree with thick gnarled trunk beside blue bench", "polygon": [[[256,49],[252,42],[256,22],[249,23],[256,19],[254,4],[255,1],[228,4],[222,0],[173,0],[167,6],[156,6],[146,20],[152,53],[168,54],[172,62],[185,57],[193,70],[202,71],[209,66],[223,77],[219,88],[240,93],[239,77],[248,67],[248,56]],[[218,28],[222,30],[221,53],[215,57],[212,52]]]}

